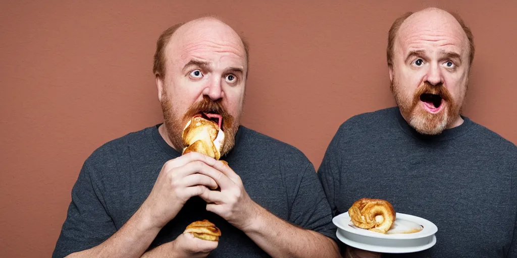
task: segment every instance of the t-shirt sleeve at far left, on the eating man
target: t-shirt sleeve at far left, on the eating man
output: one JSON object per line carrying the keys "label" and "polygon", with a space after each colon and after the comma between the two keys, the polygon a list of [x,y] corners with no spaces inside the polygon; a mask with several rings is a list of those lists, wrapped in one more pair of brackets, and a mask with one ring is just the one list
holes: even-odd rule
{"label": "t-shirt sleeve at far left, on the eating man", "polygon": [[98,246],[116,232],[96,180],[92,180],[94,172],[86,160],[72,188],[72,201],[53,258]]}

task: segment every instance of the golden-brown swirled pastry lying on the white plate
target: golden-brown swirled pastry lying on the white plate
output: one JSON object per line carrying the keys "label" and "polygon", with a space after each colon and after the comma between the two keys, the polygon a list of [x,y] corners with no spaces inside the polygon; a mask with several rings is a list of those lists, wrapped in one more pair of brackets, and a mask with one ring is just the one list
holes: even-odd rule
{"label": "golden-brown swirled pastry lying on the white plate", "polygon": [[352,204],[348,215],[356,227],[383,234],[395,221],[393,206],[381,199],[362,198]]}

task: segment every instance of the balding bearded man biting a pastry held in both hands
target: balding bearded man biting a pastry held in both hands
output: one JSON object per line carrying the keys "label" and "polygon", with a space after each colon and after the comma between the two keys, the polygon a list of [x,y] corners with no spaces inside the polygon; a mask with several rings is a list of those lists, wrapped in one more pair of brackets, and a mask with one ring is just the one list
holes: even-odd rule
{"label": "balding bearded man biting a pastry held in both hands", "polygon": [[[53,257],[338,257],[314,167],[239,124],[248,48],[215,18],[178,24],[153,68],[164,123],[97,149],[72,189]],[[184,233],[217,226],[217,241]]]}

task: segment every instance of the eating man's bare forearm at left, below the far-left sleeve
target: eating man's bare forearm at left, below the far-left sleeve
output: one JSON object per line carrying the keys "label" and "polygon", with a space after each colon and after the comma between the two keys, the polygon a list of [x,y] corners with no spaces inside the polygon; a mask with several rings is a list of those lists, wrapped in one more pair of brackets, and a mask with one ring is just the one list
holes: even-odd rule
{"label": "eating man's bare forearm at left, below the far-left sleeve", "polygon": [[140,208],[102,244],[67,257],[140,257],[159,231],[160,228],[151,225],[145,211]]}

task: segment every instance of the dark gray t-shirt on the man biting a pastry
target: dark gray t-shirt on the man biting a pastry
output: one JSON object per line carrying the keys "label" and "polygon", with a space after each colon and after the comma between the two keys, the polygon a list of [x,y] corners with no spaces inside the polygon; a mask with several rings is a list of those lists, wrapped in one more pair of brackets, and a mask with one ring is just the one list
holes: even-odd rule
{"label": "dark gray t-shirt on the man biting a pastry", "polygon": [[[101,244],[149,195],[163,164],[180,155],[160,136],[158,125],[110,141],[83,165],[72,189],[68,215],[53,257]],[[277,217],[336,240],[325,193],[307,157],[296,148],[240,126],[235,148],[224,157],[248,195]],[[193,197],[159,232],[150,248],[174,240],[188,224],[208,219],[221,230],[209,257],[269,257],[242,231],[206,211]]]}

